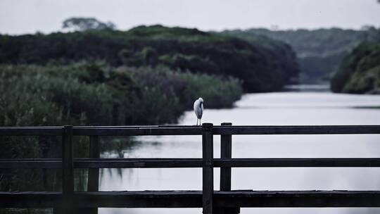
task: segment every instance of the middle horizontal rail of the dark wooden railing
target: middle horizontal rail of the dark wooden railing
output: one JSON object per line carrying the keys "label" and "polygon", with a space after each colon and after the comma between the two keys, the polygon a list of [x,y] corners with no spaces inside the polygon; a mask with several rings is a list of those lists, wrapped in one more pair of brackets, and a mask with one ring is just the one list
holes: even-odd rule
{"label": "middle horizontal rail of the dark wooden railing", "polygon": [[[380,168],[380,158],[214,158],[214,168]],[[75,158],[74,168],[201,168],[202,158]],[[0,159],[0,169],[61,169],[60,158]]]}

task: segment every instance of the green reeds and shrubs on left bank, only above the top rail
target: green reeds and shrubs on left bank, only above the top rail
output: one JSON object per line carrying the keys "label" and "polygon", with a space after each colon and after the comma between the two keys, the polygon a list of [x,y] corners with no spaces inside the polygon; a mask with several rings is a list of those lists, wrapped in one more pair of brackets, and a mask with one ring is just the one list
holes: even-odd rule
{"label": "green reeds and shrubs on left bank, only above the top rail", "polygon": [[198,96],[225,108],[242,94],[232,77],[101,62],[0,65],[0,77],[1,126],[162,124],[176,122]]}

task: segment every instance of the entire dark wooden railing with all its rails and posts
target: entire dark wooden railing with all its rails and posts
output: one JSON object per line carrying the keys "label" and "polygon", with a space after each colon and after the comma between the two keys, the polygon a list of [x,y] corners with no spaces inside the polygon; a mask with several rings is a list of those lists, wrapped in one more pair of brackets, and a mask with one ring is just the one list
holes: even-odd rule
{"label": "entire dark wooden railing with all its rails and posts", "polygon": [[[213,135],[221,158],[213,158]],[[338,126],[127,126],[0,127],[1,136],[61,136],[61,158],[0,159],[4,168],[61,168],[62,192],[0,192],[0,208],[55,208],[57,213],[97,208],[203,208],[204,214],[241,207],[380,207],[380,191],[231,190],[231,168],[380,167],[380,158],[232,158],[234,134],[380,134],[379,125]],[[102,136],[202,135],[202,158],[99,158]],[[89,136],[89,158],[73,158],[72,137]],[[0,145],[1,146],[1,145]],[[88,168],[88,191],[74,191],[74,168]],[[203,168],[202,191],[99,191],[99,168]],[[220,170],[214,191],[213,168]]]}

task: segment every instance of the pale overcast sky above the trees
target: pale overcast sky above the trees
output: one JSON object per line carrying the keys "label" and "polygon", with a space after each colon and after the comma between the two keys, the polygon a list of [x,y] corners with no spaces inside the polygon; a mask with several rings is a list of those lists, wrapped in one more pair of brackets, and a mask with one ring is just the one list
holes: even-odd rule
{"label": "pale overcast sky above the trees", "polygon": [[0,0],[0,33],[61,30],[72,16],[111,21],[120,30],[162,24],[224,30],[380,27],[376,0]]}

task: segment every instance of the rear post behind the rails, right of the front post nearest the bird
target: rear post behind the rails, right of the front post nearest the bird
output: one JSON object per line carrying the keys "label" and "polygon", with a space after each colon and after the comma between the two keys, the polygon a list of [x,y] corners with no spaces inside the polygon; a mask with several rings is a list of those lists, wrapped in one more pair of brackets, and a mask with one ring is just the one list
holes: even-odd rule
{"label": "rear post behind the rails, right of the front post nearest the bird", "polygon": [[[223,122],[222,126],[232,126],[231,122]],[[232,135],[221,134],[220,136],[220,158],[232,158]],[[231,191],[231,168],[220,168],[220,191]],[[220,214],[236,214],[240,213],[240,208],[219,208]]]}

